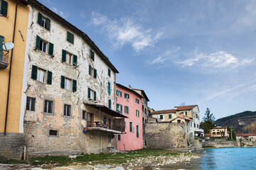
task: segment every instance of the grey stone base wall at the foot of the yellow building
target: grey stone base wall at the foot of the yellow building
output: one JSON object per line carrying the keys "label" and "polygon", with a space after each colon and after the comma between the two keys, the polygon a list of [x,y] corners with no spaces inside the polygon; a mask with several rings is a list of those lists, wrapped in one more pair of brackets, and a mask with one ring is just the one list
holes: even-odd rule
{"label": "grey stone base wall at the foot of the yellow building", "polygon": [[23,133],[0,133],[0,159],[22,159],[24,147]]}

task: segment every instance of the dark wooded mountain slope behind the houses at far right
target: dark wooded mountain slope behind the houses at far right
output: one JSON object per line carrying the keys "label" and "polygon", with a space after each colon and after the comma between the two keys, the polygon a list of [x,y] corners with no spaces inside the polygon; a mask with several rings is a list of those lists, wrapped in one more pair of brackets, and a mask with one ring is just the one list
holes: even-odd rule
{"label": "dark wooded mountain slope behind the houses at far right", "polygon": [[237,133],[256,132],[256,111],[245,111],[215,121],[217,126],[230,125]]}

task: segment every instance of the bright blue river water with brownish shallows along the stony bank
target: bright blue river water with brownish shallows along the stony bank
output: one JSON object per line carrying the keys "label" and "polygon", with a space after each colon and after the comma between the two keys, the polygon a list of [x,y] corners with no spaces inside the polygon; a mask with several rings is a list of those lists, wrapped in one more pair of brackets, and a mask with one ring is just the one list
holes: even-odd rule
{"label": "bright blue river water with brownish shallows along the stony bank", "polygon": [[[201,159],[193,159],[190,163],[181,162],[161,166],[159,169],[232,169],[232,170],[256,170],[256,148],[229,147],[203,149],[196,151],[203,154]],[[144,169],[151,169],[146,167]]]}

